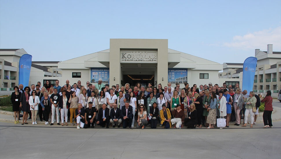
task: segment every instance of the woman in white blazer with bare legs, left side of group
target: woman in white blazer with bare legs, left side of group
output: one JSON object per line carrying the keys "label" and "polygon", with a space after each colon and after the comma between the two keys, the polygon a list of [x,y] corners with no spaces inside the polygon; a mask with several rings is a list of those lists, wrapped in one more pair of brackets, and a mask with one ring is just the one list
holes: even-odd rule
{"label": "woman in white blazer with bare legs, left side of group", "polygon": [[30,111],[31,111],[31,119],[32,119],[32,124],[37,124],[36,123],[36,118],[37,118],[37,111],[38,111],[38,104],[40,103],[39,97],[36,96],[36,91],[33,90],[31,92],[31,96],[29,97],[29,105],[30,105]]}

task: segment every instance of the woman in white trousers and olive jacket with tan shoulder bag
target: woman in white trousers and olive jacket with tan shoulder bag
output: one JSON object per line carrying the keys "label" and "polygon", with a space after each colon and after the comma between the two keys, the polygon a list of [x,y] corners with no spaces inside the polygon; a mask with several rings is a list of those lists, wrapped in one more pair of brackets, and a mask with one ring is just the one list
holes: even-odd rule
{"label": "woman in white trousers and olive jacket with tan shoulder bag", "polygon": [[242,127],[246,127],[247,126],[247,121],[248,121],[248,115],[250,113],[250,117],[251,117],[251,126],[250,128],[253,128],[253,124],[254,124],[254,112],[253,112],[253,108],[256,108],[256,102],[257,102],[257,98],[255,97],[255,93],[253,91],[250,91],[249,97],[247,99],[244,99],[244,102],[246,102],[246,111],[245,111],[245,116],[244,116],[244,122],[245,124],[242,125]]}

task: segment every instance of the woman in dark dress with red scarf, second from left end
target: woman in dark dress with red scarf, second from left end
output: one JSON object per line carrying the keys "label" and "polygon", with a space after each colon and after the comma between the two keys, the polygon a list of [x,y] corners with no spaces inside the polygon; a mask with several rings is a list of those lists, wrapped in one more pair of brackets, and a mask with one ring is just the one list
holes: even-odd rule
{"label": "woman in dark dress with red scarf, second from left end", "polygon": [[27,116],[28,116],[28,112],[30,112],[30,105],[29,105],[29,94],[30,91],[30,87],[24,87],[24,92],[21,94],[21,98],[20,98],[20,102],[21,104],[19,105],[20,107],[22,107],[22,111],[23,111],[23,124],[28,124],[27,123]]}

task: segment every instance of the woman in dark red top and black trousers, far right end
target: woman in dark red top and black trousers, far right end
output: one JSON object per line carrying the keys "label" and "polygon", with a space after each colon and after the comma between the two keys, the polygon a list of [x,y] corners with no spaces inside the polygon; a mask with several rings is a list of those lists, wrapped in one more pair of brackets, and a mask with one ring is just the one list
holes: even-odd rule
{"label": "woman in dark red top and black trousers, far right end", "polygon": [[263,112],[263,123],[265,124],[265,127],[263,128],[272,128],[272,120],[271,120],[271,114],[273,111],[272,108],[272,97],[271,97],[271,91],[267,91],[266,96],[263,100],[260,102],[265,102],[265,111]]}

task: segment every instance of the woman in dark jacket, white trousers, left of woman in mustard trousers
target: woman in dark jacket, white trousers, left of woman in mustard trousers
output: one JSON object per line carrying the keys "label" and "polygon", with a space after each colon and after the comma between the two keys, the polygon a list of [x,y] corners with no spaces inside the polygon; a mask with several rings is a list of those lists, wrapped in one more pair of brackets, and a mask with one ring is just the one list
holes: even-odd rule
{"label": "woman in dark jacket, white trousers, left of woman in mustard trousers", "polygon": [[68,107],[69,107],[69,97],[66,96],[66,91],[62,90],[61,91],[62,96],[60,97],[60,102],[58,105],[58,110],[60,111],[60,117],[61,117],[61,126],[63,126],[63,122],[65,120],[65,125],[68,126],[67,124],[67,113],[68,113]]}

